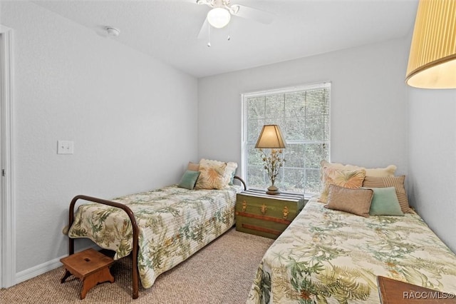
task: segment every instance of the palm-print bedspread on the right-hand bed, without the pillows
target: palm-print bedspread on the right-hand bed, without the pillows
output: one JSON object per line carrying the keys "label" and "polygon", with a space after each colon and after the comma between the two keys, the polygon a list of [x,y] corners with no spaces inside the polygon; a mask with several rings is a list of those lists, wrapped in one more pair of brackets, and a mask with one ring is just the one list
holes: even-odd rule
{"label": "palm-print bedspread on the right-hand bed, without the pillows", "polygon": [[380,303],[376,276],[456,293],[456,255],[417,214],[371,216],[312,199],[261,260],[247,303]]}

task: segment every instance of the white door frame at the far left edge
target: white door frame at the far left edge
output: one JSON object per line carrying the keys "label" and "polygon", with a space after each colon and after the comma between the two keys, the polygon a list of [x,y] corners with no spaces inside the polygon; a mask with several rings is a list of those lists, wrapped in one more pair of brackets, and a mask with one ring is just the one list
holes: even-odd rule
{"label": "white door frame at the far left edge", "polygon": [[13,170],[13,29],[0,24],[0,287],[16,284],[16,208]]}

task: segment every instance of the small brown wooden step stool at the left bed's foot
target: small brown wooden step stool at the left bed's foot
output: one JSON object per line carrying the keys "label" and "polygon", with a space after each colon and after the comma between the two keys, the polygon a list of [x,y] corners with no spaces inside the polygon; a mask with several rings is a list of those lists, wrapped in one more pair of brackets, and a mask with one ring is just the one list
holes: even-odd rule
{"label": "small brown wooden step stool at the left bed's foot", "polygon": [[65,266],[65,274],[60,283],[65,282],[70,275],[79,278],[83,282],[81,300],[86,298],[88,290],[98,283],[114,283],[114,277],[109,271],[109,266],[114,263],[114,260],[97,250],[89,248],[61,258],[60,261]]}

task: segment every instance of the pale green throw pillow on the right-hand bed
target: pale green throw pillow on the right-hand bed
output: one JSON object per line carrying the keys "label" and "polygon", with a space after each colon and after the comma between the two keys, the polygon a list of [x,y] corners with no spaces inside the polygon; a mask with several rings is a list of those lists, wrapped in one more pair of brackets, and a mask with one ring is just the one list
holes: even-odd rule
{"label": "pale green throw pillow on the right-hand bed", "polygon": [[371,216],[404,216],[400,210],[398,196],[394,187],[372,189],[373,198],[369,214]]}

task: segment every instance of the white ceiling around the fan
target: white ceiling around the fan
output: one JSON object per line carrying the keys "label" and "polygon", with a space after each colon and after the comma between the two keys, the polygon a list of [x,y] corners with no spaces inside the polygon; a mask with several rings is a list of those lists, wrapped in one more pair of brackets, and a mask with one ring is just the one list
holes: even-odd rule
{"label": "white ceiling around the fan", "polygon": [[[232,0],[275,15],[271,24],[238,16],[198,39],[209,6],[196,0],[33,1],[121,44],[197,77],[288,61],[406,36],[418,0]],[[228,33],[229,28],[229,33]],[[231,39],[228,41],[228,34]]]}

